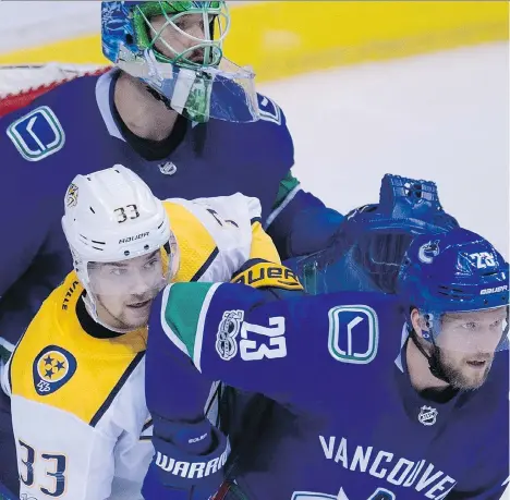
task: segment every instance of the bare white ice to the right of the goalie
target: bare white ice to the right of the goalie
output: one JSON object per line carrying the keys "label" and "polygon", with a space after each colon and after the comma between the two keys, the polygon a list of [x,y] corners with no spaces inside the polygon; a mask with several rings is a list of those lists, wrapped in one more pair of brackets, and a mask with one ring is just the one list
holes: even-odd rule
{"label": "bare white ice to the right of the goalie", "polygon": [[295,175],[345,212],[385,173],[438,184],[447,211],[509,252],[509,47],[490,44],[259,86],[284,110]]}

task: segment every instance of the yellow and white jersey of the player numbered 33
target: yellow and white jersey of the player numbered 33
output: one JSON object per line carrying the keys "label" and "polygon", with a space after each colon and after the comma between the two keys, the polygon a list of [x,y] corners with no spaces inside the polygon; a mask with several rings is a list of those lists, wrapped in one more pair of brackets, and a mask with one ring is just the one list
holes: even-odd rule
{"label": "yellow and white jersey of the player numbered 33", "polygon": [[[255,198],[165,205],[181,254],[175,281],[228,281],[250,258],[279,261]],[[144,393],[147,331],[97,333],[82,292],[71,272],[45,301],[3,373],[21,497],[138,500],[154,454]]]}

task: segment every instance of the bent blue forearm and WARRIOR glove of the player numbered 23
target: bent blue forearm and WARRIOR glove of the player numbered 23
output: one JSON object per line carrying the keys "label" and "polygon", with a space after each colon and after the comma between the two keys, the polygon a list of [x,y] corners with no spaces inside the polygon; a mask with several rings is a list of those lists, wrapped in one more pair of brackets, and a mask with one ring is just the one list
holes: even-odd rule
{"label": "bent blue forearm and WARRIOR glove of the player numbered 23", "polygon": [[[146,352],[145,394],[153,417],[155,455],[144,480],[146,500],[204,500],[223,480],[226,437],[205,416],[211,382],[162,327],[165,294],[153,304]],[[175,312],[174,320],[186,314]]]}

